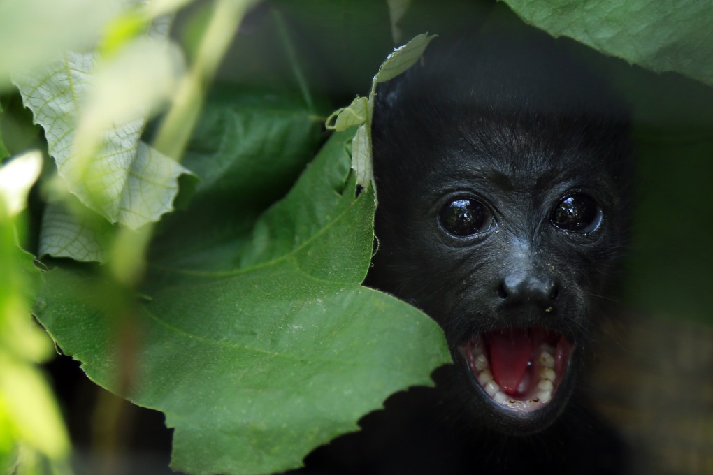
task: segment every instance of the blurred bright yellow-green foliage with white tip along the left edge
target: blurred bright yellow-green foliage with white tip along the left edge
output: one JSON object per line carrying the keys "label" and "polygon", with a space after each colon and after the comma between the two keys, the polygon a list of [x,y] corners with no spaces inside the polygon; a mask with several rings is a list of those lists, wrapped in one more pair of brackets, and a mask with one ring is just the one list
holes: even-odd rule
{"label": "blurred bright yellow-green foliage with white tip along the left edge", "polygon": [[40,166],[39,152],[28,152],[0,167],[0,464],[12,464],[16,451],[20,464],[36,451],[59,462],[69,449],[56,402],[35,366],[53,350],[29,311],[39,269],[17,246],[24,234],[19,212]]}

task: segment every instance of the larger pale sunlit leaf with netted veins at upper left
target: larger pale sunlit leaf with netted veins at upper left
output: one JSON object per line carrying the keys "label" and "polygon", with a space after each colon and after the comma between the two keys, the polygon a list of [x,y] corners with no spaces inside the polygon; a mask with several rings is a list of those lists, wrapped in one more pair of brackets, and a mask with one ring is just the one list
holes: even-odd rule
{"label": "larger pale sunlit leaf with netted veins at upper left", "polygon": [[100,150],[89,160],[75,155],[78,113],[95,63],[96,53],[68,52],[16,83],[45,130],[48,151],[70,192],[108,221],[135,229],[173,210],[178,177],[189,172],[140,141],[145,118],[105,132]]}

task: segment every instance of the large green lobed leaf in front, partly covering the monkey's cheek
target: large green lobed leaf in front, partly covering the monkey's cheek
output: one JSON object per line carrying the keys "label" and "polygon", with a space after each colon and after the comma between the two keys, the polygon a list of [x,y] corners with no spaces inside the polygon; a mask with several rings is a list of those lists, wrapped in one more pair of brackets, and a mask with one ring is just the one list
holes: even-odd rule
{"label": "large green lobed leaf in front, partly covering the monkey's cheek", "polygon": [[[232,268],[211,270],[207,256],[205,269],[195,261],[150,269],[126,396],[165,412],[175,469],[299,466],[392,392],[431,384],[431,370],[449,360],[433,320],[360,286],[374,197],[364,189],[355,198],[351,138],[327,142],[257,221]],[[91,271],[57,268],[46,274],[37,313],[93,380],[121,392],[116,315],[104,296]]]}

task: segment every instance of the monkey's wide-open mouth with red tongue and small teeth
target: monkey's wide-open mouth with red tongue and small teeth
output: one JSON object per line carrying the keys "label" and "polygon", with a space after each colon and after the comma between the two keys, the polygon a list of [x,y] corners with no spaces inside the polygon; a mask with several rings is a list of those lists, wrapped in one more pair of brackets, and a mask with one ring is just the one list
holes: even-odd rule
{"label": "monkey's wide-open mouth with red tongue and small teeth", "polygon": [[505,328],[476,335],[458,350],[496,404],[531,412],[552,400],[573,345],[547,328]]}

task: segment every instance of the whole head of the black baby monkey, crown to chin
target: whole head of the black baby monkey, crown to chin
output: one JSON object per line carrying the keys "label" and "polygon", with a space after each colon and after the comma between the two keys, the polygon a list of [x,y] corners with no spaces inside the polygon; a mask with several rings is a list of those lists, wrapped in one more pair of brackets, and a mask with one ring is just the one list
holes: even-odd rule
{"label": "whole head of the black baby monkey, crown to chin", "polygon": [[369,282],[438,321],[466,407],[518,434],[567,404],[629,213],[626,114],[552,43],[434,42],[372,127]]}

